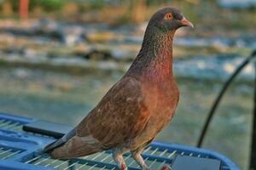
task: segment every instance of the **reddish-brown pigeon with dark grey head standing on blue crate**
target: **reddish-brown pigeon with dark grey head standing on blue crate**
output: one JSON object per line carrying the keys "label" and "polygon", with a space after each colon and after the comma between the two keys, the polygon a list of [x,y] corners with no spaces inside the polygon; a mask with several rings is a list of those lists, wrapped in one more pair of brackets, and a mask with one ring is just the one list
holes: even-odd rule
{"label": "reddish-brown pigeon with dark grey head standing on blue crate", "polygon": [[113,150],[113,160],[121,170],[127,169],[123,154],[131,152],[140,167],[149,170],[143,149],[172,120],[179,100],[172,72],[172,42],[182,26],[194,27],[179,9],[157,11],[125,75],[78,126],[47,145],[44,152],[57,159],[70,159]]}

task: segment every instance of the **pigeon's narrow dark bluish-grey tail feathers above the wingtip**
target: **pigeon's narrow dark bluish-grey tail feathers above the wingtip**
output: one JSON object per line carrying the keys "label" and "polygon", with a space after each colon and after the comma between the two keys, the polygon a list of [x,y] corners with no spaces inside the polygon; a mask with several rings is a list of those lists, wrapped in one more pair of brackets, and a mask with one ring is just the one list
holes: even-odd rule
{"label": "pigeon's narrow dark bluish-grey tail feathers above the wingtip", "polygon": [[61,139],[57,139],[55,142],[48,144],[44,147],[43,150],[41,150],[42,153],[49,152],[51,150],[54,150],[57,147],[60,147],[61,145],[65,144],[67,140],[73,138],[73,136],[76,135],[76,128],[73,128],[69,133],[65,134]]}

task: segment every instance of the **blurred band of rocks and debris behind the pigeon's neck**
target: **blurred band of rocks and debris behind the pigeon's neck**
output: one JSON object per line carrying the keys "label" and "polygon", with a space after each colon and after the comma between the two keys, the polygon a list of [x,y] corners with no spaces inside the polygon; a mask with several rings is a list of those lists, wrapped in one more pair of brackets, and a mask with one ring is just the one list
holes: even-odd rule
{"label": "blurred band of rocks and debris behind the pigeon's neck", "polygon": [[[31,20],[19,26],[17,22],[0,23],[1,66],[71,72],[126,71],[140,49],[146,26],[72,25],[52,20]],[[256,48],[253,36],[188,37],[186,31],[175,38],[178,77],[224,80],[242,56]],[[253,65],[242,75],[252,80]]]}

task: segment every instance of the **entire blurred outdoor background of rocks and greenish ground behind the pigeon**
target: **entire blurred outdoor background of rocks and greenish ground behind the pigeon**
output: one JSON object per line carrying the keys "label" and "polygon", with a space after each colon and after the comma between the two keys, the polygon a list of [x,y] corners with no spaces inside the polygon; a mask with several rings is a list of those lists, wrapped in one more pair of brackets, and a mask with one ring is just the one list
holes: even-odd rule
{"label": "entire blurred outdoor background of rocks and greenish ground behind the pigeon", "polygon": [[[256,48],[255,0],[0,0],[0,111],[76,125],[122,77],[150,16],[166,6],[180,8],[195,29],[177,31],[180,104],[157,139],[195,145],[224,81]],[[248,65],[232,84],[204,143],[242,169],[253,73]]]}

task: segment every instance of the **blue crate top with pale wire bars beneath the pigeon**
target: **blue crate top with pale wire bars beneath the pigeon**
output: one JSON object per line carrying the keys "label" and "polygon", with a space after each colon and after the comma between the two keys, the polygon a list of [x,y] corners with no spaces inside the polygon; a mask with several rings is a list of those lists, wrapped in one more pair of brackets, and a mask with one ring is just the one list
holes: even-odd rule
{"label": "blue crate top with pale wire bars beneath the pigeon", "polygon": [[[35,119],[0,113],[0,169],[7,170],[49,170],[49,169],[117,169],[111,151],[71,160],[55,160],[38,150],[55,139],[36,133],[22,131],[22,125],[36,122]],[[153,142],[143,152],[143,157],[151,169],[159,169],[164,164],[172,164],[177,155],[205,157],[222,161],[223,170],[239,170],[229,158],[211,150],[203,150],[181,144]],[[129,170],[140,169],[130,154],[125,154]]]}

